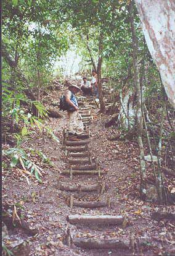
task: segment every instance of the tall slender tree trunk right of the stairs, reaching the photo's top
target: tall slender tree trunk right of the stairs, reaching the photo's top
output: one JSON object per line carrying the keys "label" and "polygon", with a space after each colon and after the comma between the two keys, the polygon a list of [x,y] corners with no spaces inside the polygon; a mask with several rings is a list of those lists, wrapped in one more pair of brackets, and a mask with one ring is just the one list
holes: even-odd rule
{"label": "tall slender tree trunk right of the stairs, reaching the photo's top", "polygon": [[138,46],[136,38],[136,30],[134,27],[134,17],[133,17],[133,7],[132,2],[129,3],[128,7],[129,19],[131,24],[131,34],[132,34],[132,48],[133,48],[133,63],[134,63],[134,81],[136,86],[136,97],[137,97],[137,140],[139,143],[140,150],[140,194],[142,197],[145,196],[145,178],[146,178],[146,165],[144,158],[144,146],[142,143],[142,105],[141,105],[141,93],[140,93],[140,78],[139,78],[139,66],[138,66]]}

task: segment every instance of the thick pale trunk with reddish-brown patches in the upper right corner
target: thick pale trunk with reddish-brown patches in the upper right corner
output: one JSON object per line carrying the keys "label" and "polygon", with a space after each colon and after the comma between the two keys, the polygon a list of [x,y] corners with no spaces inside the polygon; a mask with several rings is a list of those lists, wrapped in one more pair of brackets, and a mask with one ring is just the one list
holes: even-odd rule
{"label": "thick pale trunk with reddish-brown patches in the upper right corner", "polygon": [[150,54],[157,64],[169,102],[175,108],[175,2],[135,0]]}

